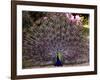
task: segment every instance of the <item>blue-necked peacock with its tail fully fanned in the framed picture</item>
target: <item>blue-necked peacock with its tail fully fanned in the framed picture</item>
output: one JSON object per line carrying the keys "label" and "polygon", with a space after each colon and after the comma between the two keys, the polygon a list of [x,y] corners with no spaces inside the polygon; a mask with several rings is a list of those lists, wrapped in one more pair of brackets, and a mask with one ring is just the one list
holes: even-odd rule
{"label": "blue-necked peacock with its tail fully fanned in the framed picture", "polygon": [[79,14],[22,11],[22,23],[23,68],[89,63]]}

